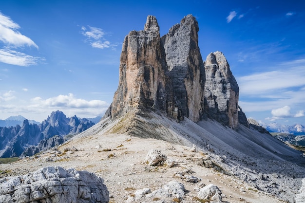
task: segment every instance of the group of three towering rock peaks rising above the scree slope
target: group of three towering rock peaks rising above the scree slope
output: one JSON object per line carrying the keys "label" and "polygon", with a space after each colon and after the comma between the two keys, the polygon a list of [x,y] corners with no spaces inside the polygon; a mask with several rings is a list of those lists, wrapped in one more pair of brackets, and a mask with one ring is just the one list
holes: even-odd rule
{"label": "group of three towering rock peaks rising above the scree slope", "polygon": [[104,117],[153,110],[177,121],[187,117],[198,122],[209,117],[236,128],[238,85],[221,52],[211,53],[205,68],[198,31],[192,15],[163,37],[154,16],[147,17],[144,30],[131,31],[122,46],[118,89]]}

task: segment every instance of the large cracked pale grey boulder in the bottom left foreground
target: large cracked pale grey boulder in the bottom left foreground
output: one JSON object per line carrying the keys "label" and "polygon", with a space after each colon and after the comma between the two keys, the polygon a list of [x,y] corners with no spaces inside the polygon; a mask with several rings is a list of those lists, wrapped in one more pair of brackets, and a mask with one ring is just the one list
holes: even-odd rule
{"label": "large cracked pale grey boulder in the bottom left foreground", "polygon": [[103,179],[87,171],[44,167],[24,176],[0,179],[1,203],[108,203]]}

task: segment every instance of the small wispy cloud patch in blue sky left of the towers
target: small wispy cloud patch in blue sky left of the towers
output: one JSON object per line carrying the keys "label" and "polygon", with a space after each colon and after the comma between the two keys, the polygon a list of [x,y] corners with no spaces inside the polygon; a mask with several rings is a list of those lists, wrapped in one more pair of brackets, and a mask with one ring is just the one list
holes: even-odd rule
{"label": "small wispy cloud patch in blue sky left of the towers", "polygon": [[88,29],[82,26],[81,30],[81,34],[86,37],[86,41],[88,41],[94,48],[104,49],[114,48],[117,46],[104,38],[106,34],[100,28],[91,27],[88,25]]}

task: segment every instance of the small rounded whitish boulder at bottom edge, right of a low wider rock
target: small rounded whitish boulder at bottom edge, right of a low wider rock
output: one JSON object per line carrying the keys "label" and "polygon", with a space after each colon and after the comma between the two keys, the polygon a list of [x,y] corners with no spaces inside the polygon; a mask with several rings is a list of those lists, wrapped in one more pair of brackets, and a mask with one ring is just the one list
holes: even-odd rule
{"label": "small rounded whitish boulder at bottom edge, right of a low wider rock", "polygon": [[222,200],[220,189],[213,184],[201,188],[198,192],[198,198],[201,200],[210,200],[213,203],[221,203]]}

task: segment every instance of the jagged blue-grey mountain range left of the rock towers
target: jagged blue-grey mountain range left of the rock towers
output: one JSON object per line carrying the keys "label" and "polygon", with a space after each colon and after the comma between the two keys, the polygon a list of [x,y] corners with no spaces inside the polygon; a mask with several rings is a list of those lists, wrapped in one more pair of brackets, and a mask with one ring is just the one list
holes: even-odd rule
{"label": "jagged blue-grey mountain range left of the rock towers", "polygon": [[[13,126],[0,127],[0,157],[31,156],[47,147],[64,142],[64,136],[73,135],[89,129],[94,122],[76,115],[67,118],[62,111],[53,111],[42,123],[29,121],[23,116],[12,116],[5,121]],[[56,139],[50,139],[58,135]],[[37,147],[37,148],[36,148]],[[26,153],[23,153],[26,152]]]}

